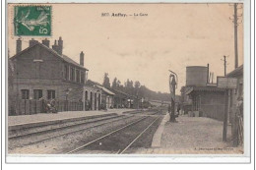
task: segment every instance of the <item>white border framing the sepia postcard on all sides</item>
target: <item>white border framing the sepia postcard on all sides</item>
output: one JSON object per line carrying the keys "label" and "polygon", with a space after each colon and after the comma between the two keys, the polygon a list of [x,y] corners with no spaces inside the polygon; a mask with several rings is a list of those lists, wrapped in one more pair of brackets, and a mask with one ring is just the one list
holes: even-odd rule
{"label": "white border framing the sepia postcard on all sides", "polygon": [[[34,0],[7,0],[7,3],[30,3],[33,2]],[[62,1],[57,1],[57,0],[39,0],[36,1],[36,3],[70,3],[70,0],[62,0]],[[72,2],[77,2],[77,3],[92,3],[91,0],[75,0]],[[109,3],[109,0],[96,0],[93,1],[93,3]],[[134,1],[129,1],[129,0],[125,0],[125,1],[121,1],[121,0],[113,0],[111,1],[111,3],[131,3]],[[250,31],[249,28],[250,27],[250,21],[249,18],[251,16],[251,25],[254,25],[253,22],[253,11],[251,11],[251,15],[248,13],[250,11],[250,4],[249,4],[249,0],[201,0],[201,1],[196,1],[196,0],[180,0],[180,1],[174,1],[174,0],[164,0],[164,1],[159,1],[159,0],[147,0],[147,2],[145,1],[136,1],[136,3],[160,3],[160,2],[165,2],[165,3],[234,3],[234,2],[239,2],[242,3],[244,2],[244,99],[250,97],[250,93],[253,92],[252,94],[254,94],[254,58],[253,58],[253,47],[254,47],[254,42],[252,42],[251,44],[251,63],[248,57],[246,56],[250,56],[250,51],[246,50],[249,49],[250,47]],[[251,2],[251,8],[254,7],[254,1],[250,1]],[[2,5],[5,5],[4,2],[2,2]],[[3,8],[2,6],[2,25],[6,26],[6,22],[5,22],[5,17],[7,14],[6,8]],[[4,23],[3,23],[4,21]],[[6,29],[5,27],[1,27],[2,28],[2,35],[4,38],[1,39],[1,43],[2,43],[2,70],[1,70],[1,75],[3,76],[3,78],[5,78],[6,75],[6,60],[5,60],[5,54],[7,54],[7,45],[5,44],[5,41],[7,39],[6,37]],[[252,30],[253,31],[253,30]],[[254,35],[254,32],[251,32],[251,36]],[[253,36],[254,37],[254,36]],[[253,38],[252,38],[253,41]],[[251,67],[250,67],[251,66]],[[3,71],[3,72],[2,72]],[[250,75],[251,73],[251,75]],[[251,76],[251,77],[250,77]],[[250,80],[251,79],[251,80]],[[5,116],[5,85],[7,84],[5,79],[2,79],[1,82],[2,84],[2,95],[1,95],[1,103],[2,103],[2,135],[4,138],[5,135],[5,121],[6,120],[6,116]],[[251,81],[251,87],[252,87],[252,91],[250,91],[250,85],[249,85],[249,81]],[[251,113],[251,117],[250,115],[246,115],[245,116],[245,148],[244,148],[244,155],[240,156],[240,155],[221,155],[220,157],[216,157],[219,155],[198,155],[198,154],[193,154],[193,155],[151,155],[151,156],[146,156],[143,155],[127,155],[127,156],[113,156],[113,155],[109,155],[109,156],[67,156],[67,155],[51,155],[48,157],[40,157],[40,156],[8,156],[7,157],[7,161],[8,162],[33,162],[33,163],[37,163],[37,162],[61,162],[61,163],[66,163],[66,162],[72,162],[72,163],[93,163],[93,162],[101,162],[101,163],[110,163],[110,162],[116,162],[116,163],[127,163],[127,162],[134,162],[134,163],[210,163],[210,162],[219,162],[219,163],[226,163],[226,162],[233,162],[233,163],[249,163],[250,162],[250,141],[249,141],[249,137],[250,137],[250,132],[251,132],[251,149],[254,149],[254,96],[251,96],[251,105],[249,104],[249,102],[245,101],[245,105],[244,105],[244,111],[245,113]],[[250,112],[251,109],[251,112]],[[251,121],[250,121],[251,118]],[[250,124],[251,122],[251,124]],[[251,125],[251,127],[250,127]],[[250,131],[251,129],[251,131]],[[3,140],[1,142],[2,144],[2,151],[3,156],[2,156],[2,161],[5,162],[5,155],[6,155],[6,150],[5,150],[5,140]],[[251,154],[251,160],[254,160],[254,152],[252,152]],[[209,168],[208,168],[209,169]]]}

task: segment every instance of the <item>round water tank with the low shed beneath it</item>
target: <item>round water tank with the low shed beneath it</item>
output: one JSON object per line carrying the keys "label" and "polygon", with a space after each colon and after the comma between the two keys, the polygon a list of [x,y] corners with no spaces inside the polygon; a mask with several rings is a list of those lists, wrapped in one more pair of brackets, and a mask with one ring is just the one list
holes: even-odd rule
{"label": "round water tank with the low shed beneath it", "polygon": [[190,116],[224,120],[224,88],[210,84],[209,65],[186,68],[185,94],[192,100]]}

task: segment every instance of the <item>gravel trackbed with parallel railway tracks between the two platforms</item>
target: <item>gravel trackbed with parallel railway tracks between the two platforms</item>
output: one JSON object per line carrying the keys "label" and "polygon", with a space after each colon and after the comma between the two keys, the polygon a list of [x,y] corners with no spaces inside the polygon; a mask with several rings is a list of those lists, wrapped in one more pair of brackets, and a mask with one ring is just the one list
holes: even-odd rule
{"label": "gravel trackbed with parallel railway tracks between the two platforms", "polygon": [[[145,140],[142,139],[150,139],[147,143],[151,143],[152,137],[148,135],[154,134],[154,128],[151,127],[152,125],[157,127],[158,123],[156,124],[155,121],[159,122],[158,119],[161,116],[151,115],[151,111],[145,112],[145,114],[138,116],[134,114],[109,115],[65,122],[61,126],[51,125],[50,128],[36,126],[37,130],[42,128],[40,130],[43,131],[34,132],[29,128],[29,131],[25,130],[26,133],[23,135],[13,133],[9,139],[8,149],[10,153],[21,154],[63,154],[83,153],[85,149],[90,149],[93,152],[98,149],[98,153],[102,153],[102,150],[109,153],[108,150],[112,149],[109,147],[114,147],[111,153],[123,154],[130,147],[144,146]],[[142,136],[143,138],[141,138]],[[101,140],[104,141],[101,142]],[[101,147],[105,145],[106,147],[97,148],[98,142],[103,143]],[[89,143],[88,146],[85,143]],[[78,145],[81,147],[78,148]]]}

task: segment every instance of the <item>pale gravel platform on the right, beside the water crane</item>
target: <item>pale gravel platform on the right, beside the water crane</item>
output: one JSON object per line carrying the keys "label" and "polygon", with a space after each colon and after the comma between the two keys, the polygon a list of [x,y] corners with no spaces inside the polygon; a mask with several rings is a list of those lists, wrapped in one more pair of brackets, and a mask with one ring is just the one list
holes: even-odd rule
{"label": "pale gravel platform on the right, beside the water crane", "polygon": [[231,126],[227,127],[227,142],[223,142],[222,121],[206,117],[181,115],[176,123],[162,119],[151,148],[133,150],[135,154],[242,154],[242,146],[233,147]]}

